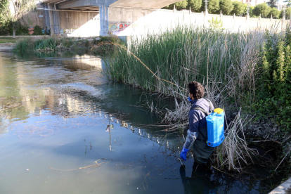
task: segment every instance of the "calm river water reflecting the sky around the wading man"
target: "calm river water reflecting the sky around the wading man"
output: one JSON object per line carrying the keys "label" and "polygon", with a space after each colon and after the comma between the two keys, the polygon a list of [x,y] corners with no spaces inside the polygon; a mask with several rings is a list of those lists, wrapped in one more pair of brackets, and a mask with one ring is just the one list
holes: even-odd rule
{"label": "calm river water reflecting the sky around the wading man", "polygon": [[[160,131],[174,102],[109,82],[101,58],[0,53],[0,193],[266,193],[268,174],[180,169],[183,139]],[[258,173],[260,172],[260,173]],[[255,178],[254,178],[255,177]]]}

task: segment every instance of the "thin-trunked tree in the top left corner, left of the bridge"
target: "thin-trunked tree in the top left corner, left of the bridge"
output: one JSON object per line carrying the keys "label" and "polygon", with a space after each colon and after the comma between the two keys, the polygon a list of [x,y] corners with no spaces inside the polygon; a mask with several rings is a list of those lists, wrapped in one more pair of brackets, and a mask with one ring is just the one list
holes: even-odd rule
{"label": "thin-trunked tree in the top left corner, left of the bridge", "polygon": [[[0,0],[5,3],[5,0]],[[6,22],[11,22],[13,26],[13,37],[15,36],[15,27],[17,22],[23,15],[27,14],[36,4],[34,0],[8,0],[7,6],[1,8],[1,13],[4,15]],[[11,5],[11,6],[10,6]]]}

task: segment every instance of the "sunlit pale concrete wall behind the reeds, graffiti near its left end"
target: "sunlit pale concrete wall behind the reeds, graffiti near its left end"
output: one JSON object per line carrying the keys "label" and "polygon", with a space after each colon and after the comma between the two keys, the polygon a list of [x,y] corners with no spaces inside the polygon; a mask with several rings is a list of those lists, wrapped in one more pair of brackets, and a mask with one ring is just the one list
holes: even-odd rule
{"label": "sunlit pale concrete wall behind the reeds, graffiti near its left end", "polygon": [[204,13],[190,13],[190,11],[148,10],[132,8],[110,7],[109,31],[118,36],[136,36],[172,30],[177,25],[194,25],[209,27],[209,20],[218,18],[223,22],[223,28],[231,32],[245,32],[249,30],[271,29],[276,26],[280,32],[290,20],[271,20],[213,15]]}

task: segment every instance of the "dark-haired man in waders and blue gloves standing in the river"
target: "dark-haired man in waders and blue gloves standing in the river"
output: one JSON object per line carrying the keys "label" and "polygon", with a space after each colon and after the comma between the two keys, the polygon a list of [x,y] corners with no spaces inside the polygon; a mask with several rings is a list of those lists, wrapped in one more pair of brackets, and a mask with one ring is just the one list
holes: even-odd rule
{"label": "dark-haired man in waders and blue gloves standing in the river", "polygon": [[214,148],[209,147],[207,141],[207,112],[211,113],[213,108],[212,103],[202,98],[204,96],[204,87],[198,82],[190,82],[188,84],[189,97],[188,101],[192,104],[188,117],[189,129],[187,131],[186,142],[183,145],[180,157],[186,160],[188,150],[193,145],[194,168],[198,167],[210,169],[209,156]]}

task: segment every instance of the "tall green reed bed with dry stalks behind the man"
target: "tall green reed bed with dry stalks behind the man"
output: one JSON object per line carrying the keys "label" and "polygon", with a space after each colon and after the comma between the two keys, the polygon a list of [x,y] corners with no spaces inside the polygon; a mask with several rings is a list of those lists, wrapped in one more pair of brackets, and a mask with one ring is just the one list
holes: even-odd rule
{"label": "tall green reed bed with dry stalks behind the man", "polygon": [[[146,70],[128,51],[119,48],[110,59],[108,74],[142,89],[182,97],[186,85],[198,81],[207,97],[221,105],[226,97],[252,101],[264,33],[231,33],[194,27],[132,39],[127,49],[160,79]],[[169,83],[172,82],[172,83]]]}

